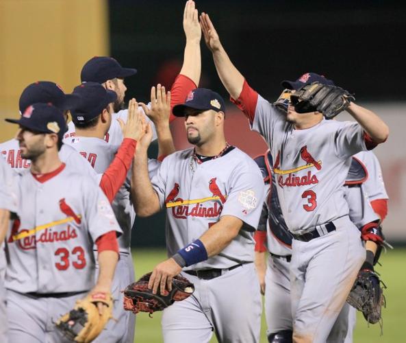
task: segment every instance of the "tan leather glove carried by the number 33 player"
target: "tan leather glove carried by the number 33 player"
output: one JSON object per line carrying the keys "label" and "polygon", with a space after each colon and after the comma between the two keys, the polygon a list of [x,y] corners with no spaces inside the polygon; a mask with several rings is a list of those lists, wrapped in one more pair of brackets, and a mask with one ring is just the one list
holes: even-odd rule
{"label": "tan leather glove carried by the number 33 player", "polygon": [[[103,314],[99,314],[97,303],[103,303]],[[113,299],[110,294],[97,293],[86,296],[84,299],[76,300],[75,307],[64,314],[55,323],[61,333],[75,342],[92,342],[105,324],[112,318]]]}

